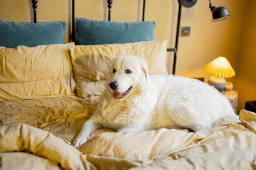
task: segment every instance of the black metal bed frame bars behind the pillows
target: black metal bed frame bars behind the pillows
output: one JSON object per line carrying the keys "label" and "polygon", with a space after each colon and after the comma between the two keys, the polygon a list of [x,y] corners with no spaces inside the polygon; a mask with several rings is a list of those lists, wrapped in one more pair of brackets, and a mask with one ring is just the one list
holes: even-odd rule
{"label": "black metal bed frame bars behind the pillows", "polygon": [[[36,8],[37,8],[37,0],[31,0],[32,1],[32,7],[34,11],[34,23],[36,23]],[[173,51],[174,57],[173,57],[173,74],[175,74],[175,68],[176,68],[176,60],[177,60],[177,48],[178,48],[178,41],[179,41],[179,33],[180,33],[180,19],[181,19],[181,7],[182,2],[181,0],[177,0],[179,3],[179,10],[178,10],[178,20],[177,20],[177,31],[176,31],[176,39],[175,39],[175,48],[167,48],[167,51]],[[110,21],[111,16],[111,8],[112,8],[112,2],[113,0],[107,0],[108,2],[108,21]],[[143,0],[143,13],[142,13],[142,21],[144,21],[145,18],[145,4],[146,0]],[[72,41],[75,42],[75,0],[72,0]]]}

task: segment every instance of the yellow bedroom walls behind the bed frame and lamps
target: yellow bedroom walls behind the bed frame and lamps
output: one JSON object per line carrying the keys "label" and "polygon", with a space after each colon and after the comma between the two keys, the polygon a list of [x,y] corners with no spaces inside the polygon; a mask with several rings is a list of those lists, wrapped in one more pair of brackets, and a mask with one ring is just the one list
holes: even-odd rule
{"label": "yellow bedroom walls behind the bed frame and lamps", "polygon": [[[33,21],[31,0],[0,0],[0,20]],[[107,0],[76,0],[76,17],[107,20]],[[112,21],[134,22],[141,20],[143,0],[113,0]],[[256,1],[212,0],[215,6],[224,6],[231,18],[211,22],[208,0],[198,0],[191,8],[182,7],[181,26],[190,26],[189,37],[180,37],[176,74],[204,77],[204,65],[218,56],[226,57],[236,76],[227,78],[239,93],[239,109],[246,100],[256,100]],[[38,0],[37,20],[71,22],[71,0]],[[145,20],[155,21],[155,39],[168,39],[168,47],[175,42],[177,0],[146,0]],[[68,41],[67,28],[65,42]],[[173,54],[169,53],[169,61]],[[172,64],[172,63],[171,63]],[[170,69],[171,72],[171,69]],[[249,76],[252,75],[252,76]]]}

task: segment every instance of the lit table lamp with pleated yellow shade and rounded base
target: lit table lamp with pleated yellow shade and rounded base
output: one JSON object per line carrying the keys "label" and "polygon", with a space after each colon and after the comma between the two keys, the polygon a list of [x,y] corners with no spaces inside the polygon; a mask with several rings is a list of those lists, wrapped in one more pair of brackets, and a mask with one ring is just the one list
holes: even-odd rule
{"label": "lit table lamp with pleated yellow shade and rounded base", "polygon": [[225,57],[218,57],[205,65],[204,69],[211,74],[208,84],[214,86],[220,92],[225,89],[225,78],[233,77],[236,73]]}

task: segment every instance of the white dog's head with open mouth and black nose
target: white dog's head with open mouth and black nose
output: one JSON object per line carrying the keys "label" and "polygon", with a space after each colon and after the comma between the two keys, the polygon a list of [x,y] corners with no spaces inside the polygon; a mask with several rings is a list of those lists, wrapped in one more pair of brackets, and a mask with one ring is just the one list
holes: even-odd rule
{"label": "white dog's head with open mouth and black nose", "polygon": [[112,61],[108,88],[117,100],[128,98],[141,92],[148,77],[147,63],[136,56],[120,56]]}

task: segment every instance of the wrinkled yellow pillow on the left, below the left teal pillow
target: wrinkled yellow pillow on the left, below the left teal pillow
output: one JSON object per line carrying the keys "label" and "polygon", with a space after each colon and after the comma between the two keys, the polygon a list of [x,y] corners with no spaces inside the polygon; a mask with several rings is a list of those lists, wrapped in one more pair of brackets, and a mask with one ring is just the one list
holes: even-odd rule
{"label": "wrinkled yellow pillow on the left, below the left teal pillow", "polygon": [[68,44],[0,47],[0,101],[73,95]]}

